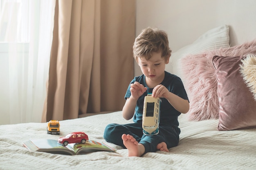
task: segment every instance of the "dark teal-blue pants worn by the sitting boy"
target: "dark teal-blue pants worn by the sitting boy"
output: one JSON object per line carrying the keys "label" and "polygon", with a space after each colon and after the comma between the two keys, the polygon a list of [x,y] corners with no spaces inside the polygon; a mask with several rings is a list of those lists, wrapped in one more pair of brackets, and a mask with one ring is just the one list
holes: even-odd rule
{"label": "dark teal-blue pants worn by the sitting boy", "polygon": [[179,143],[179,134],[170,125],[159,125],[159,133],[157,135],[145,135],[143,134],[141,123],[124,125],[112,123],[106,126],[103,137],[107,142],[126,148],[121,138],[123,134],[130,134],[136,141],[143,144],[145,147],[144,154],[156,152],[157,144],[161,142],[165,142],[167,148],[175,147]]}

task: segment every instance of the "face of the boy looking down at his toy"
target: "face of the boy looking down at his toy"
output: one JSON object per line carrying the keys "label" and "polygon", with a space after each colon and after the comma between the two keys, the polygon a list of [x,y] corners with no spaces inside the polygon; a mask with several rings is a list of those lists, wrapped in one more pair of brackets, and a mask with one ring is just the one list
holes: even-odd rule
{"label": "face of the boy looking down at his toy", "polygon": [[[164,80],[165,65],[169,63],[168,60],[162,57],[161,52],[153,52],[149,60],[145,57],[138,58],[138,64],[141,72],[146,76],[146,83],[155,86]],[[150,86],[148,84],[148,86]]]}

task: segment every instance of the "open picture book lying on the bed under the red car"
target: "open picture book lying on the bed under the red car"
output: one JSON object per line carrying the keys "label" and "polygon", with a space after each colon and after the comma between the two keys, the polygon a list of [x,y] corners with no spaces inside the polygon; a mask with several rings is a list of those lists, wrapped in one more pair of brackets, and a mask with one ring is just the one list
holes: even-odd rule
{"label": "open picture book lying on the bed under the red car", "polygon": [[97,151],[114,152],[115,149],[109,147],[105,143],[88,140],[84,144],[82,143],[70,143],[67,146],[59,144],[58,141],[53,139],[33,139],[26,141],[23,145],[31,150],[38,152],[48,152],[52,154],[87,154]]}

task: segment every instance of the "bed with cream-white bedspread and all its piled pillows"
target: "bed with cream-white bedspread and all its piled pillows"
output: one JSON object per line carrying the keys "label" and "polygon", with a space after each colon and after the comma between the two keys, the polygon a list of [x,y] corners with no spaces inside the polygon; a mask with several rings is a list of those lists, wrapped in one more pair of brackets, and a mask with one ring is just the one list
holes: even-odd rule
{"label": "bed with cream-white bedspread and all its piled pillows", "polygon": [[[60,136],[84,131],[89,139],[105,142],[115,152],[75,156],[32,152],[22,143],[30,139],[57,140],[60,136],[47,134],[47,123],[0,125],[0,169],[254,170],[256,63],[246,63],[245,59],[255,59],[255,54],[256,40],[229,47],[227,25],[207,31],[172,54],[166,70],[182,78],[191,108],[187,114],[179,116],[180,142],[177,147],[170,148],[170,152],[128,157],[126,149],[107,143],[103,139],[106,125],[132,122],[123,119],[118,111],[60,121]],[[247,68],[252,74],[247,74]],[[238,76],[240,70],[244,70],[243,76]],[[223,72],[227,74],[223,76]],[[229,74],[233,77],[227,78]],[[236,88],[239,96],[234,93]]]}

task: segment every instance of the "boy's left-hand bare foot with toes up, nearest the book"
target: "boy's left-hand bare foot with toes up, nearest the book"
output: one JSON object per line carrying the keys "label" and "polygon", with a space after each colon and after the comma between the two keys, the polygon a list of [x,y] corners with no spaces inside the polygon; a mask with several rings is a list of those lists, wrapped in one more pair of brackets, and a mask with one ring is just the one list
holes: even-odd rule
{"label": "boy's left-hand bare foot with toes up, nearest the book", "polygon": [[123,134],[122,139],[128,149],[128,157],[140,157],[145,152],[144,145],[138,143],[130,134]]}

